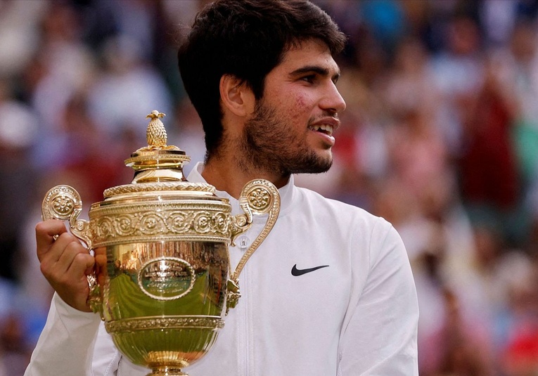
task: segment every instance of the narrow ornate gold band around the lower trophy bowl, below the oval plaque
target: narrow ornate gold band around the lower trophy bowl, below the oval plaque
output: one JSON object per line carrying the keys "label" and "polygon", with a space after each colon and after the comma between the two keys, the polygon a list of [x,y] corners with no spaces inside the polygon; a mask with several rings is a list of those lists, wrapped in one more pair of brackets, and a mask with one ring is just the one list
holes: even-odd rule
{"label": "narrow ornate gold band around the lower trophy bowl, below the oval plaque", "polygon": [[134,330],[162,330],[183,328],[224,328],[224,320],[215,316],[167,316],[141,317],[111,320],[105,323],[109,333],[132,332]]}

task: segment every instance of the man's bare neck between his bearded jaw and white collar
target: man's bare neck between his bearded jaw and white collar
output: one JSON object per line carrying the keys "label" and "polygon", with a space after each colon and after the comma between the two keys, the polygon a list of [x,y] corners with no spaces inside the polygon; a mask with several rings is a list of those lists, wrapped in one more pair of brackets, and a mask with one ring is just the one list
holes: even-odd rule
{"label": "man's bare neck between his bearded jaw and white collar", "polygon": [[222,190],[232,197],[239,198],[241,190],[246,183],[253,179],[266,179],[271,181],[276,188],[281,188],[288,183],[289,176],[271,173],[268,171],[251,170],[244,171],[234,160],[212,158],[207,161],[202,171],[202,176],[217,190]]}

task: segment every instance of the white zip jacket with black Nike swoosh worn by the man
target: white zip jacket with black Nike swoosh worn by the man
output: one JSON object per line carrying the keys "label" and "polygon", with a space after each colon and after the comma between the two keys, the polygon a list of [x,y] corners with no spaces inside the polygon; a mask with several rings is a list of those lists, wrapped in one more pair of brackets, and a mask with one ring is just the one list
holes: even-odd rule
{"label": "white zip jacket with black Nike swoosh worn by the man", "polygon": [[[189,181],[203,181],[198,164]],[[241,299],[191,376],[418,375],[418,304],[402,240],[387,221],[293,184],[243,269]],[[229,198],[233,214],[237,200]],[[255,217],[250,245],[264,226]],[[238,242],[240,243],[240,242]],[[244,248],[243,248],[244,249]],[[232,266],[243,249],[230,248]],[[326,266],[294,276],[299,269]],[[53,298],[25,376],[146,376],[101,320]]]}

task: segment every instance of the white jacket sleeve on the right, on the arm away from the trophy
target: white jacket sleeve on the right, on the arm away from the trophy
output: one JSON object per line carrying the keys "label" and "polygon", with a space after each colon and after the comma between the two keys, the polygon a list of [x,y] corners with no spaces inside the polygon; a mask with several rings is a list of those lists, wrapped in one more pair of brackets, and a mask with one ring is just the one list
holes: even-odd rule
{"label": "white jacket sleeve on the right, on the arm away from the trophy", "polygon": [[[352,291],[342,328],[338,376],[416,376],[418,302],[406,249],[383,219],[369,244],[366,277],[353,275],[361,287]],[[352,262],[364,261],[352,256]]]}

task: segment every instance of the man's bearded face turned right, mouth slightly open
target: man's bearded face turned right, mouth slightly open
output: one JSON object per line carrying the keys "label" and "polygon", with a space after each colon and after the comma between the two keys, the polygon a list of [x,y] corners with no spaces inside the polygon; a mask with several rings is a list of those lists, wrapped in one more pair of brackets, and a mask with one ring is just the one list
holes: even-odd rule
{"label": "man's bearded face turned right, mouth slightly open", "polygon": [[303,41],[265,79],[263,98],[245,124],[245,168],[283,176],[331,167],[333,131],[345,102],[336,89],[340,70],[325,44]]}

